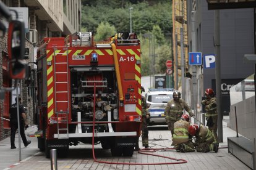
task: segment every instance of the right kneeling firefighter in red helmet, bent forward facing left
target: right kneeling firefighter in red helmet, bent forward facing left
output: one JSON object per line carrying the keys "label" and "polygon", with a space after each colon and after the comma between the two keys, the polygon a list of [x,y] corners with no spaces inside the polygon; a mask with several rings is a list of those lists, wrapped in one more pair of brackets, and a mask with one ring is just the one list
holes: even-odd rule
{"label": "right kneeling firefighter in red helmet, bent forward facing left", "polygon": [[189,126],[189,134],[196,137],[197,152],[218,152],[218,142],[207,127],[202,124],[200,126],[197,124],[191,125]]}

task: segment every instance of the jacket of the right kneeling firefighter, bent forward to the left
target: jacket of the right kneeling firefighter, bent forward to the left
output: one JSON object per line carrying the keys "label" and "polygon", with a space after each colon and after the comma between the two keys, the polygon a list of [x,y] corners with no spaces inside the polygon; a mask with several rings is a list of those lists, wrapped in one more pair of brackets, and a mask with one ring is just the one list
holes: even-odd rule
{"label": "jacket of the right kneeling firefighter, bent forward to the left", "polygon": [[213,133],[211,133],[210,129],[208,129],[206,126],[203,126],[200,124],[199,131],[197,134],[195,134],[195,137],[197,138],[197,144],[207,142],[207,144],[211,144],[215,141],[215,137]]}

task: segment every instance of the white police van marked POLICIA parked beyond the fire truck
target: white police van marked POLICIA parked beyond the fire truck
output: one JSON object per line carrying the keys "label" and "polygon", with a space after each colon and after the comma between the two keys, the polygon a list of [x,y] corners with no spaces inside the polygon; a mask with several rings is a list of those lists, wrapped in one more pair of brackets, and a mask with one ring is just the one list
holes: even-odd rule
{"label": "white police van marked POLICIA parked beyond the fire truck", "polygon": [[148,89],[147,94],[145,94],[147,104],[150,104],[148,111],[150,112],[151,123],[148,125],[166,124],[164,109],[169,100],[173,99],[173,90],[172,88]]}

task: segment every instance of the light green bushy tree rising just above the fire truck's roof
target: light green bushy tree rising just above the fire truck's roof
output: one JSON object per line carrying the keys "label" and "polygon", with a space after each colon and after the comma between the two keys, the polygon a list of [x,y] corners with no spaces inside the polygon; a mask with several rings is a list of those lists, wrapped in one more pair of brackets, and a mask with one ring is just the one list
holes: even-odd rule
{"label": "light green bushy tree rising just above the fire truck's roof", "polygon": [[95,41],[107,39],[116,34],[116,28],[108,22],[101,22],[97,28],[97,33],[94,36]]}

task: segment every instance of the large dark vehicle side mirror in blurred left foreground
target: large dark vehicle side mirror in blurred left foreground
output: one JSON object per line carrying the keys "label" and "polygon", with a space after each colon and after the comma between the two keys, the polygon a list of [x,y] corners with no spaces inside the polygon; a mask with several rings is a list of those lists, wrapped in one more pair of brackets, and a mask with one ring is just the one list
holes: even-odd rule
{"label": "large dark vehicle side mirror in blurred left foreground", "polygon": [[25,26],[20,20],[12,20],[8,31],[9,73],[12,79],[25,78]]}

